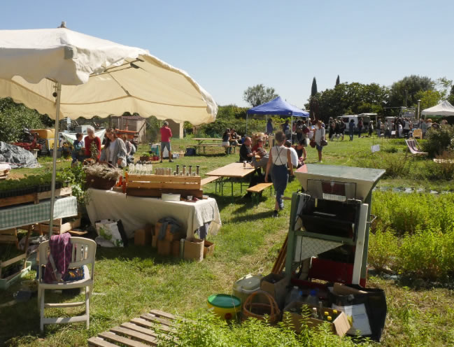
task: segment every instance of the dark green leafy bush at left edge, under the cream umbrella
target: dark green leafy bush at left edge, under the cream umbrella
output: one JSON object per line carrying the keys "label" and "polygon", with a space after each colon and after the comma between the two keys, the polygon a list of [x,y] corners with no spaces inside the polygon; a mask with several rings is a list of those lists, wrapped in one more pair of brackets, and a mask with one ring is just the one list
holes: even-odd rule
{"label": "dark green leafy bush at left edge, under the cream umbrella", "polygon": [[52,122],[47,115],[40,115],[24,104],[16,104],[13,99],[0,99],[0,141],[20,141],[24,134],[24,127],[39,129]]}

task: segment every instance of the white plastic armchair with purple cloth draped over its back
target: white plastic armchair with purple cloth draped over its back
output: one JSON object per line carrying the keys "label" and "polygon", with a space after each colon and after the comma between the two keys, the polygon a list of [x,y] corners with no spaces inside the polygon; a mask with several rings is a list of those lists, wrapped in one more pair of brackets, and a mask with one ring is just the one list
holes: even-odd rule
{"label": "white plastic armchair with purple cloth draped over its back", "polygon": [[[43,265],[48,263],[49,255],[49,241],[44,241],[39,245],[39,270],[38,270],[38,308],[40,309],[40,327],[41,331],[44,330],[45,324],[59,324],[59,323],[75,323],[83,322],[87,323],[87,329],[90,327],[90,296],[93,290],[93,276],[94,276],[94,256],[96,255],[96,242],[83,237],[71,237],[71,243],[73,245],[73,252],[71,255],[71,263],[69,269],[82,267],[84,268],[84,278],[80,281],[69,281],[59,283],[45,283],[43,281],[44,267]],[[91,264],[91,271],[88,271],[87,264]],[[85,301],[83,302],[66,302],[66,303],[55,303],[45,304],[45,290],[64,290],[72,288],[84,288],[85,287]],[[44,316],[44,309],[55,308],[55,307],[76,307],[83,306],[85,304],[85,314],[83,316],[74,317],[59,317],[59,318],[46,318]]]}

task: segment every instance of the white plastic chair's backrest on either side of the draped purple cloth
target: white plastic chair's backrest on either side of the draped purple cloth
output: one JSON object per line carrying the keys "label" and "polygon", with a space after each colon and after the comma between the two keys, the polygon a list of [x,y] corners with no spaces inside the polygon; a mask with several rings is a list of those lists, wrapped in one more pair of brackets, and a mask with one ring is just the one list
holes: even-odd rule
{"label": "white plastic chair's backrest on either side of the draped purple cloth", "polygon": [[[94,257],[96,255],[97,244],[91,239],[85,239],[85,237],[71,237],[71,244],[73,245],[73,251],[71,254],[71,262],[69,263],[69,269],[81,267],[85,264],[91,264],[90,278],[93,279],[94,274]],[[40,243],[38,248],[39,254],[39,274],[38,278],[41,279],[42,265],[47,264],[49,257],[49,241]]]}

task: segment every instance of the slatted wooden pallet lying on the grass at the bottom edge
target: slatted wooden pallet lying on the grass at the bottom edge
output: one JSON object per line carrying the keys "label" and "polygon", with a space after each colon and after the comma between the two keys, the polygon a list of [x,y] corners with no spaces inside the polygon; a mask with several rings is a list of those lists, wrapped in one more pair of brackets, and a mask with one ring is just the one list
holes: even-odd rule
{"label": "slatted wooden pallet lying on the grass at the bottom edge", "polygon": [[170,313],[152,310],[108,332],[101,332],[97,337],[90,337],[87,343],[89,347],[157,346],[159,334],[171,337],[175,319]]}

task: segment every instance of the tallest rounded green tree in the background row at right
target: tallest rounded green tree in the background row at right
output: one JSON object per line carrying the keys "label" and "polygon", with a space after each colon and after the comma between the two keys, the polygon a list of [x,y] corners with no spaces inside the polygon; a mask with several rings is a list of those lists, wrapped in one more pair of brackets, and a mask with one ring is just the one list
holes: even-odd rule
{"label": "tallest rounded green tree in the background row at right", "polygon": [[416,94],[434,90],[434,81],[426,76],[411,75],[393,83],[390,88],[390,106],[413,106],[418,104]]}

